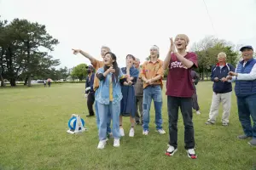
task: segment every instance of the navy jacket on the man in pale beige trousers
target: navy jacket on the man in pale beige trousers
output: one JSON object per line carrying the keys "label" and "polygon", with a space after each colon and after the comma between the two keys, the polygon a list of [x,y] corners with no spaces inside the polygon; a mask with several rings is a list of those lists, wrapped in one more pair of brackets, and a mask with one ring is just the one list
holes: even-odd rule
{"label": "navy jacket on the man in pale beige trousers", "polygon": [[[222,69],[220,69],[219,65],[212,66],[212,74],[211,80],[213,82],[212,89],[216,94],[224,94],[232,91],[232,83],[231,82],[222,82],[221,79],[223,77],[227,77],[230,71],[235,71],[235,67],[230,64],[224,65]],[[214,78],[218,77],[218,82],[214,81]]]}

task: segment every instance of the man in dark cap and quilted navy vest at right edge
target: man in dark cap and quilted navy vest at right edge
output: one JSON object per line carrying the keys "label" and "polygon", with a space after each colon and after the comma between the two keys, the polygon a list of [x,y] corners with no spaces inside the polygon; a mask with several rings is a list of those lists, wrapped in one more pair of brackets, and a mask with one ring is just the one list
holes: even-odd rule
{"label": "man in dark cap and quilted navy vest at right edge", "polygon": [[256,146],[256,59],[253,59],[252,46],[244,46],[240,51],[242,60],[238,63],[236,72],[230,71],[227,79],[236,82],[238,116],[244,132],[238,139],[253,137],[248,144]]}

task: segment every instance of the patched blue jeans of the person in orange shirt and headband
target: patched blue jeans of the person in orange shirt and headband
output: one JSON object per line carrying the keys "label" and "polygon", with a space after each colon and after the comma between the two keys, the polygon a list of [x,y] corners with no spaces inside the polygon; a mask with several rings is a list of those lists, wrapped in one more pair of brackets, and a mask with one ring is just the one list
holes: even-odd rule
{"label": "patched blue jeans of the person in orange shirt and headband", "polygon": [[143,130],[148,130],[151,101],[154,100],[156,129],[162,129],[162,90],[160,85],[148,86],[143,90]]}

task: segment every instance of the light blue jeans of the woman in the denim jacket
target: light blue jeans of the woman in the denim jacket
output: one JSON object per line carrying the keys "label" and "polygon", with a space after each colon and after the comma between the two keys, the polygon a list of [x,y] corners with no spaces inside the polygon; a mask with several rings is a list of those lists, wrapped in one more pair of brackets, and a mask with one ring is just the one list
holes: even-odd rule
{"label": "light blue jeans of the woman in the denim jacket", "polygon": [[107,124],[108,124],[108,113],[111,114],[112,123],[113,123],[113,138],[119,139],[119,116],[120,116],[120,103],[113,105],[112,102],[109,105],[102,105],[98,103],[98,113],[100,117],[99,124],[99,139],[107,139]]}

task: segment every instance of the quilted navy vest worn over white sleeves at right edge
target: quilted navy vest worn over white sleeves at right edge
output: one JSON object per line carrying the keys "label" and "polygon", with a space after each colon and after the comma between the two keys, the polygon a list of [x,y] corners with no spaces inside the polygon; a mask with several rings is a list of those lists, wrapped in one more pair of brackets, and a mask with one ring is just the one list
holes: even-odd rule
{"label": "quilted navy vest worn over white sleeves at right edge", "polygon": [[[250,59],[243,67],[244,61],[241,60],[236,68],[237,73],[248,74],[252,71],[253,65],[256,64],[256,59]],[[237,97],[247,97],[252,94],[256,94],[256,80],[245,81],[236,80],[235,92]]]}

